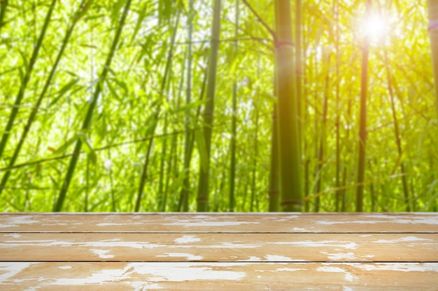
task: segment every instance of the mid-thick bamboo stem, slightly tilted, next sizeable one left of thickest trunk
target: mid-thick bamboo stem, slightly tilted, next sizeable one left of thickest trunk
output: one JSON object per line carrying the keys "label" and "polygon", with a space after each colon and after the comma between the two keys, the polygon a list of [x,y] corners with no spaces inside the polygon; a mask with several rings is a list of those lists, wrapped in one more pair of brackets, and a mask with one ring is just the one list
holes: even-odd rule
{"label": "mid-thick bamboo stem, slightly tilted, next sizeable one left of thickest trunk", "polygon": [[211,135],[213,133],[214,98],[216,94],[216,71],[218,66],[218,49],[220,36],[220,0],[214,0],[213,29],[211,33],[211,49],[209,79],[207,82],[207,100],[204,109],[204,140],[206,147],[206,165],[201,165],[197,196],[197,211],[209,211],[209,170],[211,154]]}

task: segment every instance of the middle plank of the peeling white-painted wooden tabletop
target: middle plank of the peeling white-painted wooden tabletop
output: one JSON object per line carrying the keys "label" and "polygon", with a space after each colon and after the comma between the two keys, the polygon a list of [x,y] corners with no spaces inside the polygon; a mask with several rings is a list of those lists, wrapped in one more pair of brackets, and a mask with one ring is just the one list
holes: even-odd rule
{"label": "middle plank of the peeling white-painted wooden tabletop", "polygon": [[0,234],[2,261],[437,262],[438,234]]}

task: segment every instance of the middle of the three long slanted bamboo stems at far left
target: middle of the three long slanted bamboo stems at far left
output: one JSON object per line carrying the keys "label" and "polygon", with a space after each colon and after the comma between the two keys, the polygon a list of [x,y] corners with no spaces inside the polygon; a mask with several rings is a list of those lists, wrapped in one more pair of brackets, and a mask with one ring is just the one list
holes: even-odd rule
{"label": "middle of the three long slanted bamboo stems at far left", "polygon": [[[45,81],[43,91],[41,91],[41,94],[38,96],[38,100],[36,100],[34,107],[32,107],[31,114],[29,115],[29,118],[27,119],[27,123],[24,126],[24,129],[23,129],[22,134],[20,136],[20,140],[18,141],[18,144],[14,149],[13,155],[11,156],[11,158],[9,160],[8,167],[13,167],[13,165],[15,165],[15,161],[17,161],[17,158],[20,155],[20,151],[22,149],[22,145],[24,144],[24,140],[26,140],[27,134],[29,133],[31,126],[35,121],[36,114],[38,114],[38,110],[39,110],[39,107],[41,105],[41,102],[43,101],[43,98],[45,97],[45,94],[47,93],[47,91],[50,87],[50,84],[52,84],[52,79],[55,76],[59,62],[61,61],[62,55],[64,54],[64,50],[69,43],[71,34],[73,33],[73,29],[75,28],[76,23],[78,22],[80,17],[83,15],[81,13],[81,11],[83,11],[83,9],[85,8],[85,1],[90,2],[90,0],[83,0],[80,3],[79,9],[76,11],[75,15],[73,16],[73,21],[71,22],[69,28],[66,31],[64,39],[62,40],[61,49],[59,50],[59,52],[57,54],[57,57],[55,59],[55,63],[52,66],[52,70],[50,70],[48,78]],[[6,183],[8,182],[9,177],[10,177],[10,170],[7,170],[3,174],[3,177],[1,179],[0,195],[3,192],[4,187],[6,186]]]}

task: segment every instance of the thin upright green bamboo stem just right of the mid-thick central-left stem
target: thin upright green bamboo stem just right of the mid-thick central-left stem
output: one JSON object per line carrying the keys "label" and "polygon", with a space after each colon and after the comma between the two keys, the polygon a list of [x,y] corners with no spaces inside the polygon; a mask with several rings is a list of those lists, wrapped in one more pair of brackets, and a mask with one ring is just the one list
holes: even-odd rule
{"label": "thin upright green bamboo stem just right of the mid-thick central-left stem", "polygon": [[[234,23],[234,37],[237,38],[239,35],[239,0],[236,0],[235,4],[235,19]],[[236,40],[234,42],[234,58],[237,57],[237,52],[239,49],[239,42]],[[231,152],[231,161],[229,165],[229,212],[234,212],[234,207],[236,205],[236,198],[234,197],[235,188],[235,176],[236,176],[236,130],[237,130],[237,73],[234,73],[234,84],[233,84],[233,112],[232,112],[232,124],[231,124],[231,140],[229,144]]]}

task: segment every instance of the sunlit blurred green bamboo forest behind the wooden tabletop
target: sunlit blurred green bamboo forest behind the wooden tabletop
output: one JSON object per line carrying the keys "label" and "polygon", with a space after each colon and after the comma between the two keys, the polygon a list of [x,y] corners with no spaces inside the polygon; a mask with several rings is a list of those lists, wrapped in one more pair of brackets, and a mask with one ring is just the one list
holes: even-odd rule
{"label": "sunlit blurred green bamboo forest behind the wooden tabletop", "polygon": [[0,3],[0,211],[438,211],[438,0]]}

